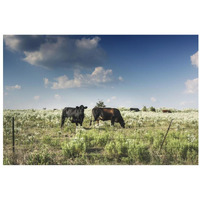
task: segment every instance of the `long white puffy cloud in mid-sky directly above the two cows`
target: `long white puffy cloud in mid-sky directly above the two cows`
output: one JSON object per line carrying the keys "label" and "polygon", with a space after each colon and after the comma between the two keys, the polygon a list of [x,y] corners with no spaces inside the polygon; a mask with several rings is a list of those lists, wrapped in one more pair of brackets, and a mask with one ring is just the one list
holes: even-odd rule
{"label": "long white puffy cloud in mid-sky directly above the two cows", "polygon": [[66,75],[55,78],[55,82],[51,82],[52,89],[79,88],[90,86],[101,86],[104,83],[113,80],[112,70],[96,67],[91,74],[74,73],[74,78],[69,79]]}

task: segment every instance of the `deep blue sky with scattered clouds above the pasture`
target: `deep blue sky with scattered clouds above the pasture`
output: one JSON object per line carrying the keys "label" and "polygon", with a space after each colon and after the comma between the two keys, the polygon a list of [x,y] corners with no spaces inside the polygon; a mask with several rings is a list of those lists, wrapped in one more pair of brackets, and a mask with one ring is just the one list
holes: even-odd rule
{"label": "deep blue sky with scattered clouds above the pasture", "polygon": [[5,35],[4,109],[198,107],[197,35]]}

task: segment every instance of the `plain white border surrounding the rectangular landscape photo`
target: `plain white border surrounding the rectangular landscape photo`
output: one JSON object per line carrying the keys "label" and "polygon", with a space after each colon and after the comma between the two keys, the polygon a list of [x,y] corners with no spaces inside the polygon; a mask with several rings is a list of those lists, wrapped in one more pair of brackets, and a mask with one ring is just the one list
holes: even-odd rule
{"label": "plain white border surrounding the rectangular landscape photo", "polygon": [[[198,1],[1,1],[3,34],[199,34]],[[2,63],[2,62],[1,62]],[[3,63],[0,73],[2,134]],[[2,135],[1,135],[2,139]],[[3,166],[3,199],[198,199],[199,166]]]}

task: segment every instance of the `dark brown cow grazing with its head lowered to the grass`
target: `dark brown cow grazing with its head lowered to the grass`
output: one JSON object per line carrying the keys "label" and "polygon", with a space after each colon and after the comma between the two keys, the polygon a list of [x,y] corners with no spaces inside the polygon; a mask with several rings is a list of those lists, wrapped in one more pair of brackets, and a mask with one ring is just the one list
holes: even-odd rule
{"label": "dark brown cow grazing with its head lowered to the grass", "polygon": [[[99,124],[99,120],[107,121],[111,120],[111,125],[114,126],[115,122],[119,122],[121,127],[125,128],[124,120],[121,116],[121,113],[116,108],[98,108],[95,107],[92,109],[92,114],[94,117],[93,122],[97,121]],[[92,116],[90,120],[90,126],[92,124]]]}

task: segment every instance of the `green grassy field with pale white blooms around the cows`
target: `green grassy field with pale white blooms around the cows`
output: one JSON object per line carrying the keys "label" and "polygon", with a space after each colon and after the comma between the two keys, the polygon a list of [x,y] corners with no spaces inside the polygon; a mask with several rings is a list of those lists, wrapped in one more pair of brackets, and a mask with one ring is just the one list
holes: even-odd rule
{"label": "green grassy field with pale white blooms around the cows", "polygon": [[[83,127],[65,123],[61,110],[4,110],[4,165],[197,165],[198,111],[173,113],[131,112],[121,108],[123,129],[110,122]],[[12,117],[15,118],[15,153],[12,152]],[[164,135],[173,119],[167,138]]]}

